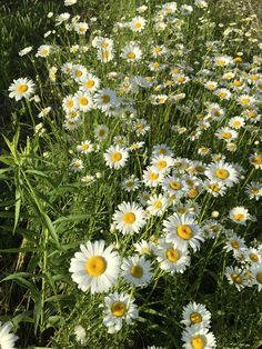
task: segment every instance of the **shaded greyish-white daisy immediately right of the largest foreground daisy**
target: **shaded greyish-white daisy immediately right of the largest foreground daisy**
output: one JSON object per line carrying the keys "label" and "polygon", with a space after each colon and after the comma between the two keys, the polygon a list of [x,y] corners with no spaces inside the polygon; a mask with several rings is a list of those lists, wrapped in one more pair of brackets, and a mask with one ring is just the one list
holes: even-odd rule
{"label": "shaded greyish-white daisy immediately right of the largest foreground daisy", "polygon": [[123,278],[133,286],[145,286],[152,277],[150,261],[144,257],[124,258],[121,269]]}

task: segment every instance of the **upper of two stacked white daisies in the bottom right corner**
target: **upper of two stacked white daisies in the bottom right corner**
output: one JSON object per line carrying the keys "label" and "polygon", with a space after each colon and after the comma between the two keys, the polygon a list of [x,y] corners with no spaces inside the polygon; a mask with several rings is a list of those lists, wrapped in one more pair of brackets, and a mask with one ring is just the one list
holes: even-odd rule
{"label": "upper of two stacked white daisies in the bottom right corner", "polygon": [[183,320],[181,321],[187,327],[190,326],[202,326],[210,327],[211,312],[204,305],[189,302],[188,306],[183,307]]}

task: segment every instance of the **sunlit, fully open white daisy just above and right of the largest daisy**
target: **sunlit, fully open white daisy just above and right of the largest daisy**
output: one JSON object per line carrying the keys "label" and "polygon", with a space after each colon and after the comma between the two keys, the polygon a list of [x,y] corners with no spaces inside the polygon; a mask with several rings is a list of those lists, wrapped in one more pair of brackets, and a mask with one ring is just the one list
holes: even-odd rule
{"label": "sunlit, fully open white daisy just above and right of the largest daisy", "polygon": [[122,202],[113,215],[113,222],[123,235],[138,233],[147,223],[145,212],[134,202]]}

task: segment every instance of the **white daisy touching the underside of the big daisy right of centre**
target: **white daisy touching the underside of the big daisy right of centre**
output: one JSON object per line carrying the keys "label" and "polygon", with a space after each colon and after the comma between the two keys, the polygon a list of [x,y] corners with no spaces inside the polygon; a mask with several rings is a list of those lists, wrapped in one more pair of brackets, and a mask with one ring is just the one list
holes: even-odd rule
{"label": "white daisy touching the underside of the big daisy right of centre", "polygon": [[177,243],[167,242],[164,239],[160,239],[159,243],[153,247],[153,252],[157,256],[160,268],[170,273],[183,273],[190,266],[189,251],[178,247]]}

